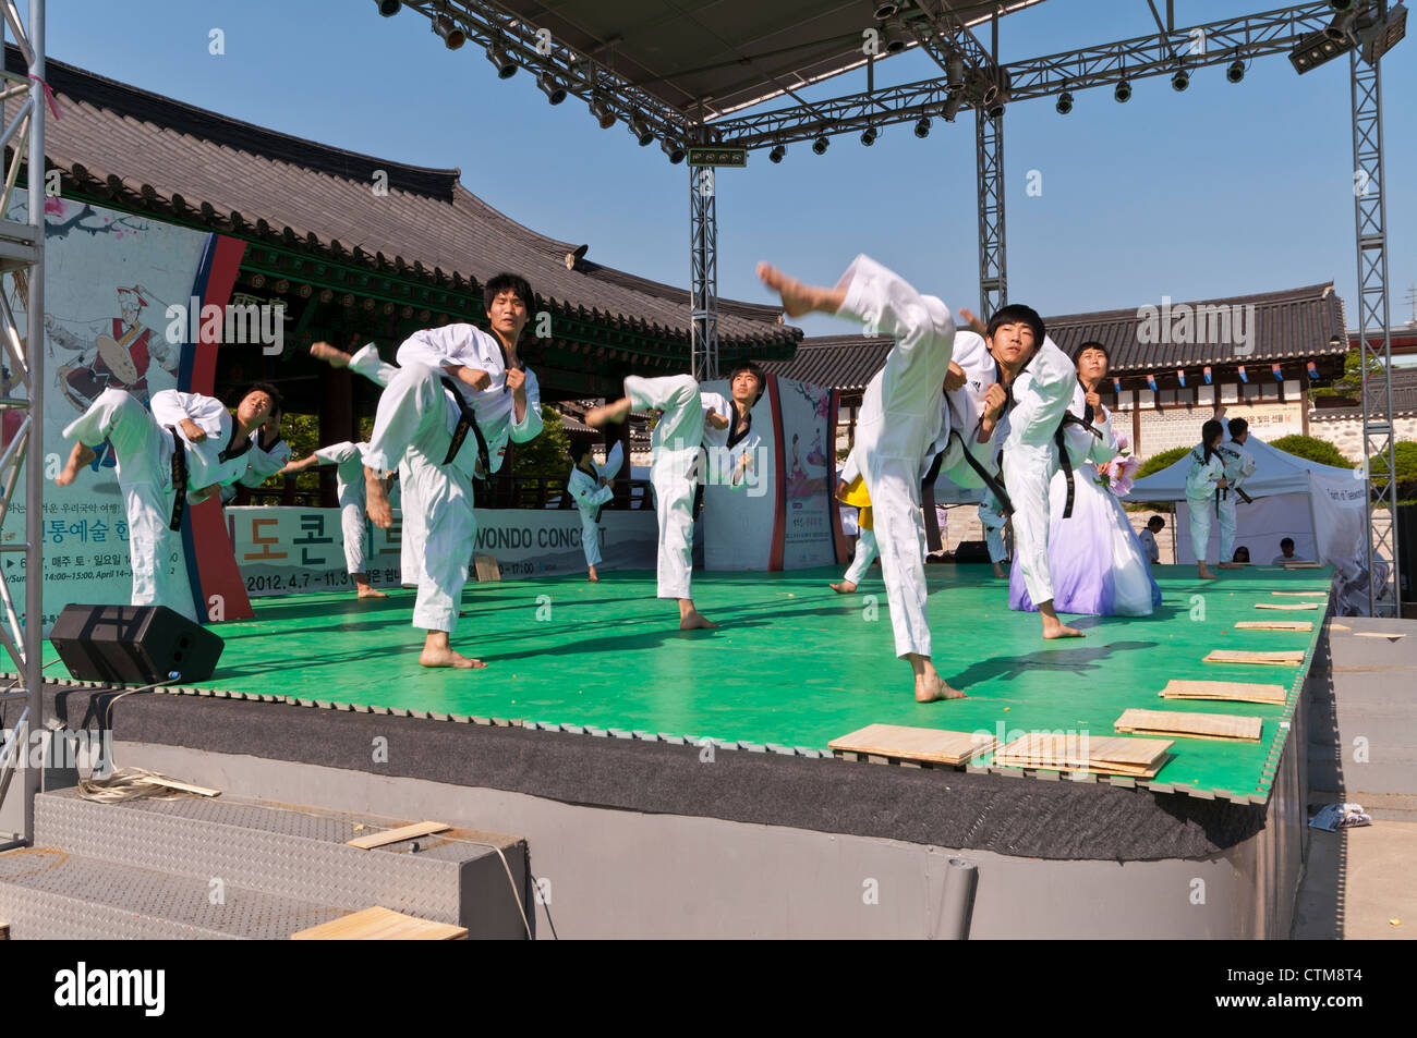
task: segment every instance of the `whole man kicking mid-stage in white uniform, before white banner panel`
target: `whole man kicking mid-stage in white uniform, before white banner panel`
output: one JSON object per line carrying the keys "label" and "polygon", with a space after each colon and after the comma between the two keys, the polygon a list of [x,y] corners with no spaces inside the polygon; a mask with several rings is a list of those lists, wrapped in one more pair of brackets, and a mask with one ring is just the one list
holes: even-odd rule
{"label": "whole man kicking mid-stage in white uniform, before white banner panel", "polygon": [[649,480],[659,524],[656,595],[679,602],[680,630],[718,626],[694,606],[691,588],[694,489],[704,467],[703,447],[710,446],[708,479],[743,489],[761,442],[752,430],[752,405],[762,397],[762,374],[751,363],[740,364],[730,375],[730,387],[731,402],[721,394],[700,392],[693,375],[628,375],[625,397],[585,415],[587,425],[599,428],[625,421],[632,409],[660,412],[649,442]]}

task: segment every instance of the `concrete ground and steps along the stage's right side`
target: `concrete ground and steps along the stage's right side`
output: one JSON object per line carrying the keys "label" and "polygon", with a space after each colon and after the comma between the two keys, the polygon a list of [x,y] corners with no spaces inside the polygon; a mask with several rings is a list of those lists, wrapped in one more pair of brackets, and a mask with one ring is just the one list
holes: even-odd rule
{"label": "concrete ground and steps along the stage's right side", "polygon": [[1357,803],[1373,824],[1308,830],[1294,937],[1417,937],[1417,623],[1332,620],[1309,681],[1309,816]]}

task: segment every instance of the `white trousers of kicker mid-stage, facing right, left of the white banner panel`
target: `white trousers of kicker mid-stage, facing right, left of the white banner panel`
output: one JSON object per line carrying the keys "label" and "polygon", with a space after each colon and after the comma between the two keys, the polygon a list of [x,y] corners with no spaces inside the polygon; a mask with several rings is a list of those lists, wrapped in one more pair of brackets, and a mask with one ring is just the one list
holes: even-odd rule
{"label": "white trousers of kicker mid-stage, facing right, left of the white banner panel", "polygon": [[703,443],[703,404],[693,375],[625,380],[625,395],[638,411],[663,415],[655,426],[655,460],[649,472],[659,523],[659,598],[691,599],[694,568],[693,470]]}

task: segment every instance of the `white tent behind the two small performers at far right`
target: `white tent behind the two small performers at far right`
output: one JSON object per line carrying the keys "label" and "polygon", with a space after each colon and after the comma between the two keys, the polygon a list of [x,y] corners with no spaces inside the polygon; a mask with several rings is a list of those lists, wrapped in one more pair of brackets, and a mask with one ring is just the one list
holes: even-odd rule
{"label": "white tent behind the two small performers at far right", "polygon": [[[1294,538],[1299,559],[1333,566],[1333,592],[1339,613],[1367,612],[1367,517],[1363,498],[1367,484],[1360,469],[1319,464],[1271,447],[1253,435],[1246,449],[1254,456],[1255,472],[1244,491],[1253,504],[1240,503],[1236,515],[1236,547],[1250,549],[1250,561],[1268,565],[1280,555],[1280,541]],[[1186,473],[1190,456],[1138,480],[1129,501],[1176,503],[1176,561],[1195,564],[1190,548],[1190,508],[1186,504]],[[1210,524],[1206,557],[1219,558],[1219,523]],[[1229,559],[1226,559],[1229,561]]]}

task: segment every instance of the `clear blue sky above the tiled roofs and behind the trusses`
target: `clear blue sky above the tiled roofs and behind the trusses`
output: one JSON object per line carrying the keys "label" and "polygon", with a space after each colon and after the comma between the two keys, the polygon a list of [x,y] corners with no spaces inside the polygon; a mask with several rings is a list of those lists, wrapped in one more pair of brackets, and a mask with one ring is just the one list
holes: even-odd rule
{"label": "clear blue sky above the tiled roofs and behind the trusses", "polygon": [[[1176,0],[1178,25],[1278,7]],[[452,52],[427,18],[378,17],[373,0],[65,0],[48,11],[48,52],[143,89],[373,156],[459,167],[463,184],[537,231],[589,244],[588,258],[689,282],[689,171],[622,125],[601,130],[584,103],[551,108],[526,71],[499,82],[473,45]],[[1163,10],[1163,6],[1158,3]],[[208,52],[221,28],[225,54]],[[1050,0],[1005,18],[1005,61],[1146,34],[1145,0]],[[877,68],[877,84],[938,75],[918,54]],[[864,88],[864,72],[813,88]],[[1389,286],[1393,324],[1417,283],[1417,38],[1383,62]],[[1284,57],[1223,68],[1175,93],[1138,82],[1005,116],[1009,297],[1044,314],[1206,299],[1335,280],[1357,323],[1348,62],[1305,76]],[[1041,194],[1026,191],[1030,171]],[[1037,177],[1034,177],[1037,181]],[[869,252],[951,306],[978,307],[973,119],[910,126],[874,147],[837,136],[825,156],[789,147],[774,166],[721,171],[718,289],[768,302],[752,270],[771,259],[835,282]],[[850,331],[818,317],[809,334]]]}

